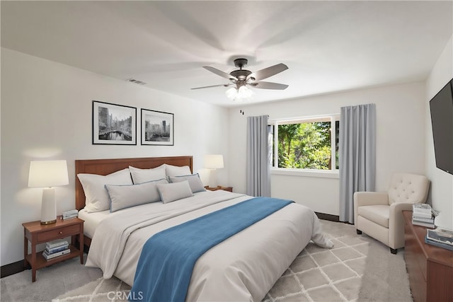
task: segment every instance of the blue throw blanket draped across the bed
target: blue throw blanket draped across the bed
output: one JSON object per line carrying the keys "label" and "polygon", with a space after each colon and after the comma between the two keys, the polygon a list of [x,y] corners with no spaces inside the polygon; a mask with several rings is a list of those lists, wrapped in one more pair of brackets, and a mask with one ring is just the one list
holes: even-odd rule
{"label": "blue throw blanket draped across the bed", "polygon": [[193,267],[201,255],[290,203],[256,197],[156,233],[144,244],[130,297],[185,301]]}

